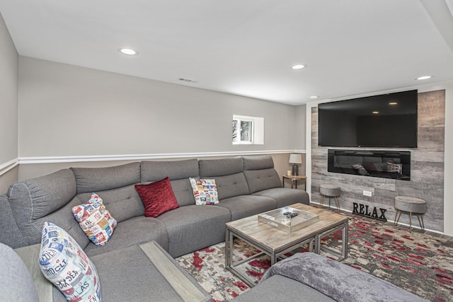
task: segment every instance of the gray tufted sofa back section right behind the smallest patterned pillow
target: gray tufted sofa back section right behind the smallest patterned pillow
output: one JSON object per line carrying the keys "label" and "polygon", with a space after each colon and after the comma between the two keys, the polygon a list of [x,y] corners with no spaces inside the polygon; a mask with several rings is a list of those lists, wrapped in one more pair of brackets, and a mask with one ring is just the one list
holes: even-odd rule
{"label": "gray tufted sofa back section right behind the smallest patterned pillow", "polygon": [[249,194],[241,157],[201,159],[200,178],[213,178],[219,199]]}

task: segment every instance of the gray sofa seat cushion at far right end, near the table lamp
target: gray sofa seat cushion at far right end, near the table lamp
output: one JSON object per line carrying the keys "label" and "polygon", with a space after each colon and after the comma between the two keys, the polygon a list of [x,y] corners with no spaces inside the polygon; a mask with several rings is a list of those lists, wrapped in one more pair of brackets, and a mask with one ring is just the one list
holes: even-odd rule
{"label": "gray sofa seat cushion at far right end, near the table lamp", "polygon": [[310,197],[304,190],[294,190],[286,187],[275,187],[253,193],[256,196],[265,196],[275,199],[277,208],[287,207],[291,204],[310,204]]}

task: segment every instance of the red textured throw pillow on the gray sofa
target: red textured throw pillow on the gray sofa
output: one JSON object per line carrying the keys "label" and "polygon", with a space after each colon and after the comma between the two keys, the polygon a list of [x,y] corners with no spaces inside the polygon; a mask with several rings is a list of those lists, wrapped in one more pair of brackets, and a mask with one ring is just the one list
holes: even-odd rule
{"label": "red textured throw pillow on the gray sofa", "polygon": [[157,217],[179,207],[170,179],[151,182],[149,185],[134,185],[144,204],[144,216]]}

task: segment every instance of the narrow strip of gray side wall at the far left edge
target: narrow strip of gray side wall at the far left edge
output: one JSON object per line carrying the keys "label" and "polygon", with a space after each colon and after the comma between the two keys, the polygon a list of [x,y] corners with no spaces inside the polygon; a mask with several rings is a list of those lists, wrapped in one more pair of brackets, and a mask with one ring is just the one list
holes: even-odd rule
{"label": "narrow strip of gray side wall at the far left edge", "polygon": [[[18,158],[18,54],[0,15],[0,192],[15,180],[5,165]],[[6,175],[9,174],[9,175]]]}

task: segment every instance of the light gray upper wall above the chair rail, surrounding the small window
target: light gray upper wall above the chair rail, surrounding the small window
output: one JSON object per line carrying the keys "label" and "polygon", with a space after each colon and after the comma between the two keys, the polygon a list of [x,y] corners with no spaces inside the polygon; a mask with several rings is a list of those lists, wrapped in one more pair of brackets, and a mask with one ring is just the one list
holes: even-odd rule
{"label": "light gray upper wall above the chair rail, surrounding the small window", "polygon": [[[40,59],[19,59],[19,154],[294,149],[294,106]],[[264,145],[232,145],[234,114],[264,117]]]}

